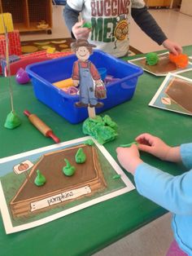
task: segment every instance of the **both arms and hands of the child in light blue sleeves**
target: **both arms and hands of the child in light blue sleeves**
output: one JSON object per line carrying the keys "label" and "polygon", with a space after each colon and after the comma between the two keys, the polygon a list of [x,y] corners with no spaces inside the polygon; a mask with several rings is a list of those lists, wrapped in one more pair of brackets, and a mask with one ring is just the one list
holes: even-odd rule
{"label": "both arms and hands of the child in light blue sleeves", "polygon": [[[154,146],[154,148],[153,146],[146,146],[152,148],[151,152],[153,152],[154,155],[162,151],[163,153],[168,153],[169,147],[159,138],[146,134],[138,136],[137,138],[139,138],[140,143],[147,143],[149,136],[150,138],[152,137],[152,142],[154,142],[155,139],[155,145],[159,144],[159,151],[154,150],[156,146]],[[159,139],[159,141],[157,141],[157,139]],[[139,145],[139,147],[140,146],[141,145]],[[145,151],[149,152],[148,150]],[[154,201],[173,213],[192,214],[192,170],[174,177],[171,174],[147,165],[140,159],[135,144],[130,148],[117,148],[116,152],[120,165],[123,166],[125,170],[134,174],[137,191],[142,196],[146,196],[151,201]],[[166,156],[167,153],[165,153]],[[184,163],[188,163],[192,166],[191,154],[192,143],[183,144],[181,145],[181,156],[179,154],[179,156],[177,156],[178,158],[176,157],[174,160],[178,161],[182,157]],[[159,155],[159,157],[164,158],[165,155]],[[172,156],[172,153],[169,156]]]}

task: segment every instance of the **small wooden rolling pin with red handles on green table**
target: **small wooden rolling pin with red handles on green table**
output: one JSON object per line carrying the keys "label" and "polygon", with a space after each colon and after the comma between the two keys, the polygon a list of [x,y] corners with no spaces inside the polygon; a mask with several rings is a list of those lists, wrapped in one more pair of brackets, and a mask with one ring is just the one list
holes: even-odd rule
{"label": "small wooden rolling pin with red handles on green table", "polygon": [[28,112],[28,110],[24,110],[24,114],[28,117],[29,121],[33,123],[33,126],[35,126],[37,130],[41,131],[41,134],[45,135],[46,137],[50,137],[55,141],[55,143],[60,142],[60,139],[54,135],[53,130],[51,130],[49,126],[46,126],[46,124],[41,121],[39,117],[37,117],[35,114],[31,114]]}

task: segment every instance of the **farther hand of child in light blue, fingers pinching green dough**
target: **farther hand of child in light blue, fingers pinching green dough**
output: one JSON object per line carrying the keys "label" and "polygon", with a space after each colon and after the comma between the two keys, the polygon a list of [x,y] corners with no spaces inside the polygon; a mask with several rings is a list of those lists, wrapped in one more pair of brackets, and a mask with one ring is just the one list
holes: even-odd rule
{"label": "farther hand of child in light blue, fingers pinching green dough", "polygon": [[155,157],[159,157],[165,161],[181,161],[179,147],[169,147],[162,139],[150,134],[142,134],[137,136],[136,141],[138,149],[151,153]]}

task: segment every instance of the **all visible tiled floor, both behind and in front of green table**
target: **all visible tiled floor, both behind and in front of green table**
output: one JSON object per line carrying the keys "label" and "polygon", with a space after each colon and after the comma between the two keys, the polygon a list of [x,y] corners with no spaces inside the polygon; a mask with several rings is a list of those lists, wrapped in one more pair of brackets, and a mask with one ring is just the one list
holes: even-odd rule
{"label": "all visible tiled floor, both behind and in front of green table", "polygon": [[[53,29],[52,34],[32,33],[21,36],[22,41],[68,38],[70,34],[63,23],[63,7],[53,8]],[[190,45],[192,42],[192,16],[181,14],[179,11],[158,9],[150,10],[160,27],[172,41],[178,42],[181,46]],[[130,45],[144,53],[164,49],[148,38],[141,29],[131,22]],[[142,40],[141,40],[142,38]],[[142,43],[141,43],[142,42]],[[164,256],[168,245],[172,241],[171,214],[165,214],[154,222],[140,228],[124,239],[117,241],[106,249],[101,250],[94,256]]]}

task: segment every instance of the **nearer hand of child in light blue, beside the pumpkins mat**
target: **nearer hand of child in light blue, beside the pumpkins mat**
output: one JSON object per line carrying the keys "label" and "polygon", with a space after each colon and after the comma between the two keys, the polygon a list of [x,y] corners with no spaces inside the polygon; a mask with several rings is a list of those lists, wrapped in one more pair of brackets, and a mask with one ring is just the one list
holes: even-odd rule
{"label": "nearer hand of child in light blue, beside the pumpkins mat", "polygon": [[136,145],[130,148],[116,148],[117,158],[125,170],[134,174],[137,166],[142,163]]}

